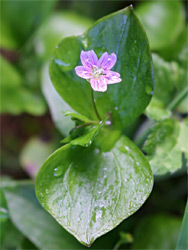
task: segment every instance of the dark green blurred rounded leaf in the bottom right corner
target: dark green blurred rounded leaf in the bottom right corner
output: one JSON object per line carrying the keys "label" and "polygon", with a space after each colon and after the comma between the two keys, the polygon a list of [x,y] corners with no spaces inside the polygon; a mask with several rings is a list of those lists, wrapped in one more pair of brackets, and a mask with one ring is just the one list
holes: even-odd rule
{"label": "dark green blurred rounded leaf in the bottom right corner", "polygon": [[175,249],[181,220],[167,214],[143,218],[135,229],[132,249]]}

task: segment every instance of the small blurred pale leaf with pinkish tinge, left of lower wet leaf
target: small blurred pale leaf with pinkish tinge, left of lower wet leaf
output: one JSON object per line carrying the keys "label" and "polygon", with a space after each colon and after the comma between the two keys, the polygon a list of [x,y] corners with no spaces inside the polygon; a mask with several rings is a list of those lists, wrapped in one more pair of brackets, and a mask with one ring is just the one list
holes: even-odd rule
{"label": "small blurred pale leaf with pinkish tinge, left of lower wet leaf", "polygon": [[45,159],[56,149],[55,141],[31,138],[20,153],[20,164],[30,177],[35,178]]}

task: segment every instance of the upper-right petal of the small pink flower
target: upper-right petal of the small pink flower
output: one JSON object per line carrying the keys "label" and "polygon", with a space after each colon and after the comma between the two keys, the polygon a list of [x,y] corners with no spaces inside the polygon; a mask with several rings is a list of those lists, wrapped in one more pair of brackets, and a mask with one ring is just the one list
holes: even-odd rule
{"label": "upper-right petal of the small pink flower", "polygon": [[116,61],[117,56],[115,53],[108,55],[108,53],[105,52],[99,59],[97,66],[102,67],[104,70],[110,70],[115,65]]}

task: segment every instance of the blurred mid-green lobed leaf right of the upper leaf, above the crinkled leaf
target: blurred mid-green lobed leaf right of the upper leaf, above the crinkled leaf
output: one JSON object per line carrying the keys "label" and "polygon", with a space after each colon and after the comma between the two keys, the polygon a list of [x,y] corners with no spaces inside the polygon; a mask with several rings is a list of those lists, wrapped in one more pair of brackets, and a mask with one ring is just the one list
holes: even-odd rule
{"label": "blurred mid-green lobed leaf right of the upper leaf, above the crinkled leaf", "polygon": [[[185,53],[185,51],[184,51]],[[157,54],[152,54],[156,89],[154,96],[146,108],[146,115],[153,120],[162,120],[171,116],[171,102],[187,87],[187,70],[184,63],[166,62]],[[182,61],[185,60],[182,58]],[[184,97],[173,109],[188,112],[188,96]],[[169,106],[170,105],[170,106]]]}

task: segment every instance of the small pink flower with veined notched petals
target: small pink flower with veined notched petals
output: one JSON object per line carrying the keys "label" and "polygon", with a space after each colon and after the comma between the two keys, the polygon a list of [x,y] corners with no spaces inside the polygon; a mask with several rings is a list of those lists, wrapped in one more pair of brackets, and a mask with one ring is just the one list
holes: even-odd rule
{"label": "small pink flower with veined notched petals", "polygon": [[104,92],[107,90],[107,84],[121,82],[120,74],[111,70],[117,61],[115,53],[108,55],[105,52],[98,59],[93,50],[82,50],[80,59],[83,66],[75,68],[76,74],[88,80],[93,90]]}

